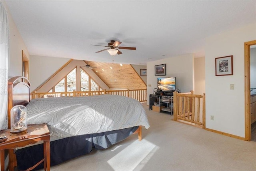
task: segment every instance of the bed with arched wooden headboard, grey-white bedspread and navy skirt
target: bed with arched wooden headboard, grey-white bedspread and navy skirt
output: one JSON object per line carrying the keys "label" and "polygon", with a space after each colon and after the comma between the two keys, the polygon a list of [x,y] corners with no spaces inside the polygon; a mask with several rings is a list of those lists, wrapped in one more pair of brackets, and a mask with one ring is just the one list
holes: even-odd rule
{"label": "bed with arched wooden headboard, grey-white bedspread and navy skirt", "polygon": [[[142,104],[120,95],[30,100],[30,82],[25,77],[9,79],[8,95],[9,123],[11,108],[22,104],[27,108],[27,124],[48,125],[51,166],[88,154],[93,148],[106,149],[135,133],[141,140],[142,126],[150,126]],[[16,149],[15,155],[9,155],[16,155],[19,170],[26,170],[43,158],[43,144]],[[35,170],[43,167],[41,163]]]}

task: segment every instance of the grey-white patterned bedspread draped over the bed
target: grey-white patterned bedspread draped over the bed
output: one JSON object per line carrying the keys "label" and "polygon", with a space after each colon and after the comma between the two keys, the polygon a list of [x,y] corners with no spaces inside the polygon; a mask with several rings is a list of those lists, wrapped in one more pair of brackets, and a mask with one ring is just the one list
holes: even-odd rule
{"label": "grey-white patterned bedspread draped over the bed", "polygon": [[51,137],[56,139],[138,125],[149,127],[142,104],[120,95],[32,99],[26,108],[27,124],[47,123]]}

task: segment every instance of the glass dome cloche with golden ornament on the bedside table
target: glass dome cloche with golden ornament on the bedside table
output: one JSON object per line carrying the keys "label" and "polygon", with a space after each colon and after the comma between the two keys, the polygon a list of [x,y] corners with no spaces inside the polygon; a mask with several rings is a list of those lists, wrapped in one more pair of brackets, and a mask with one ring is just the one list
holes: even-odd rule
{"label": "glass dome cloche with golden ornament on the bedside table", "polygon": [[12,107],[10,135],[24,134],[27,130],[27,108],[24,105]]}

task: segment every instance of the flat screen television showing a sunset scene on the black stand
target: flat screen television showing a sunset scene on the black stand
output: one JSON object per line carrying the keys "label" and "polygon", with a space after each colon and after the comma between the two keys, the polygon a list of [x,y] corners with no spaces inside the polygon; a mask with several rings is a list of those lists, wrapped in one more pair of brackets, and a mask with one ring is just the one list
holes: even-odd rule
{"label": "flat screen television showing a sunset scene on the black stand", "polygon": [[176,77],[157,78],[157,89],[162,91],[175,91]]}

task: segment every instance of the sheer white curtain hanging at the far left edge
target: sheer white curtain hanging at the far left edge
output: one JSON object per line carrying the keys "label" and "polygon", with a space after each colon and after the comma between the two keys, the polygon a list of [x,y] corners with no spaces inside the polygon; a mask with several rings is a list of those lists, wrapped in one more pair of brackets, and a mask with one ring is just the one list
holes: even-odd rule
{"label": "sheer white curtain hanging at the far left edge", "polygon": [[7,12],[0,2],[0,129],[6,129],[8,103],[9,24]]}

